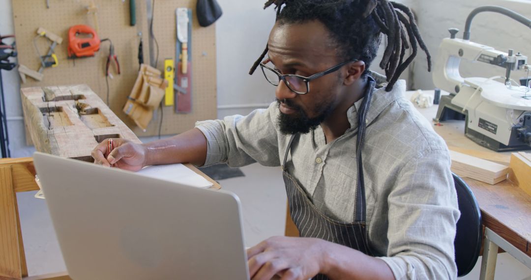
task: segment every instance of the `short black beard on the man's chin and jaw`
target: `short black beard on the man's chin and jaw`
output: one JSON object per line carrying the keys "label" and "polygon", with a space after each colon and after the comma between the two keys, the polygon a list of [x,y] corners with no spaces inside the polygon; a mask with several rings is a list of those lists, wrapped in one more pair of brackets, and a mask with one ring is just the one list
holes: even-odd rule
{"label": "short black beard on the man's chin and jaw", "polygon": [[322,103],[320,106],[315,108],[317,116],[314,118],[309,118],[304,110],[296,106],[289,99],[278,100],[277,107],[280,107],[280,104],[284,103],[286,106],[297,110],[296,113],[286,115],[285,113],[280,112],[278,115],[277,124],[279,126],[280,132],[283,134],[306,134],[311,130],[315,130],[332,112],[331,103]]}

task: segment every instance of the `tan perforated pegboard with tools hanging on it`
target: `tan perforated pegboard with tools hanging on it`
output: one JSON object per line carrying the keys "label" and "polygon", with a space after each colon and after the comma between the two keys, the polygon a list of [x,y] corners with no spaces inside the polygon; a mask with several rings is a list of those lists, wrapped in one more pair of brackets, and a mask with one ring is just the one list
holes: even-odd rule
{"label": "tan perforated pegboard with tools hanging on it", "polygon": [[[37,71],[40,60],[34,47],[34,38],[39,27],[63,38],[61,45],[55,48],[58,58],[57,67],[44,69],[42,81],[28,77],[22,88],[31,86],[57,86],[70,84],[88,84],[92,91],[107,100],[105,66],[109,54],[109,42],[102,42],[94,57],[67,58],[68,29],[76,24],[85,24],[95,28],[95,18],[87,14],[87,6],[92,2],[97,6],[97,19],[100,39],[109,38],[115,47],[121,75],[116,74],[114,64],[110,66],[113,78],[108,79],[109,108],[129,126],[137,136],[153,136],[159,133],[162,116],[161,134],[182,133],[193,128],[195,121],[216,118],[216,31],[215,25],[200,27],[195,16],[195,0],[155,0],[153,5],[153,34],[158,42],[157,68],[164,72],[164,59],[175,59],[177,7],[193,10],[192,25],[192,112],[175,113],[173,106],[164,106],[153,114],[147,130],[142,131],[122,111],[127,97],[131,93],[138,76],[139,32],[143,39],[144,63],[149,64],[149,48],[157,56],[155,44],[150,44],[147,1],[136,0],[136,25],[130,26],[129,1],[120,0],[49,0],[46,1],[13,0],[13,20],[15,24],[16,45],[19,52],[19,64]],[[44,38],[35,40],[40,55],[45,55],[50,42]]]}

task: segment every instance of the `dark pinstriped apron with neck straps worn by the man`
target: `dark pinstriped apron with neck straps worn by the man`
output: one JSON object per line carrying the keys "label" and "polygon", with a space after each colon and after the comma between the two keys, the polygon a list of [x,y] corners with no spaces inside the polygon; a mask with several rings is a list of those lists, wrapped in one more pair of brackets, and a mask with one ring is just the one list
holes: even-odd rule
{"label": "dark pinstriped apron with neck straps worn by the man", "polygon": [[[366,255],[372,255],[367,238],[366,213],[365,213],[365,187],[363,182],[363,167],[361,147],[365,135],[365,119],[369,111],[372,92],[374,91],[375,82],[369,77],[369,85],[365,92],[365,99],[358,114],[358,137],[356,140],[356,156],[358,165],[358,180],[356,189],[356,207],[354,212],[354,222],[344,223],[333,220],[326,214],[322,213],[312,203],[311,195],[298,185],[297,181],[286,170],[288,153],[291,150],[293,140],[297,135],[292,135],[284,156],[282,165],[282,177],[286,185],[288,196],[289,211],[293,222],[297,226],[301,237],[320,238],[333,243],[341,244]],[[314,280],[326,280],[327,276],[318,274]]]}

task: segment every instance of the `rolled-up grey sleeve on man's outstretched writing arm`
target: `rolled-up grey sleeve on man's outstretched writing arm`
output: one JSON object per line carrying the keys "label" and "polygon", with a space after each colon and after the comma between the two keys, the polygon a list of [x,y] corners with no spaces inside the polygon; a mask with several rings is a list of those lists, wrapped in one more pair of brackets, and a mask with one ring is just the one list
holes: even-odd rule
{"label": "rolled-up grey sleeve on man's outstretched writing arm", "polygon": [[259,162],[278,166],[278,132],[276,102],[267,109],[252,111],[247,116],[229,116],[222,120],[198,121],[195,127],[207,138],[204,165],[227,163],[230,167]]}

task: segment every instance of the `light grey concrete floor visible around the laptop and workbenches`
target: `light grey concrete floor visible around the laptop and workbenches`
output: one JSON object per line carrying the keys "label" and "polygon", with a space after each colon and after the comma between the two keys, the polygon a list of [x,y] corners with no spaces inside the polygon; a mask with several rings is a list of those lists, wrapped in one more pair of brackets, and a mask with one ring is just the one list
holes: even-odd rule
{"label": "light grey concrete floor visible around the laptop and workbenches", "polygon": [[[220,180],[222,188],[239,196],[243,209],[243,227],[247,247],[274,235],[283,235],[286,218],[286,194],[280,168],[251,164],[242,168],[245,177]],[[18,194],[22,235],[30,275],[66,270],[45,201],[35,192]],[[479,278],[481,258],[474,270],[463,278]],[[531,279],[531,270],[508,253],[498,256],[495,279]]]}

